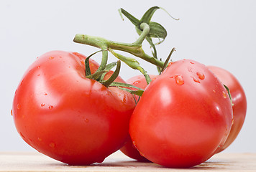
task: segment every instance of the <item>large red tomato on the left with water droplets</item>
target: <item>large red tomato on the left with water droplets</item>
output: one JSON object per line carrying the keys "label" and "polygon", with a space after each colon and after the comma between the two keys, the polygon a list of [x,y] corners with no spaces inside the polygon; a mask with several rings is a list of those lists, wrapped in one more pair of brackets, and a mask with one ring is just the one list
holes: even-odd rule
{"label": "large red tomato on the left with water droplets", "polygon": [[[84,59],[72,52],[43,54],[24,74],[12,108],[29,145],[70,165],[102,162],[119,150],[135,105],[128,92],[87,79]],[[91,61],[92,72],[98,67]]]}

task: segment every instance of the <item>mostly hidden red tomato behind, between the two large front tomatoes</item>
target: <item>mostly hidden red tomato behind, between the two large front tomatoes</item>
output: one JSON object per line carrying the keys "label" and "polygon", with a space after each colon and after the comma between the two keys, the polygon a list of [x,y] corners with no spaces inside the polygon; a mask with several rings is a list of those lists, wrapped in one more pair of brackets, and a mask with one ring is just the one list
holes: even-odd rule
{"label": "mostly hidden red tomato behind, between the two large front tomatoes", "polygon": [[[151,80],[155,80],[156,77],[158,77],[158,75],[150,75]],[[136,87],[140,87],[143,90],[145,90],[145,88],[147,87],[147,81],[144,75],[131,77],[129,80],[127,80],[127,83]],[[134,97],[136,98],[136,101],[139,100],[139,96],[134,95]],[[132,140],[130,137],[127,140],[127,143],[120,149],[120,151],[122,151],[122,153],[124,153],[126,156],[129,156],[129,158],[133,158],[137,161],[148,161],[147,158],[140,155],[140,152],[137,151],[137,148],[135,148],[132,144]]]}

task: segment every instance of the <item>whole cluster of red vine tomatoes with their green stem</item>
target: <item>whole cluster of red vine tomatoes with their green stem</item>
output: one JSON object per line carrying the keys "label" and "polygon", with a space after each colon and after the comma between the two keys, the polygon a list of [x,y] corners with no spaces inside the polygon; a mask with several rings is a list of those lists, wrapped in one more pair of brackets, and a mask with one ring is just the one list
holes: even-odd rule
{"label": "whole cluster of red vine tomatoes with their green stem", "polygon": [[[169,62],[173,50],[165,62],[158,60],[151,38],[165,39],[167,32],[150,22],[157,9],[141,20],[121,10],[140,34],[132,44],[77,34],[74,42],[101,48],[101,65],[77,52],[38,57],[19,82],[12,106],[23,140],[69,165],[101,163],[120,149],[137,161],[189,168],[226,149],[244,123],[244,90],[219,67],[191,59]],[[153,57],[143,51],[144,40]],[[113,49],[156,65],[160,75],[147,75],[136,59]],[[107,64],[108,52],[119,61]],[[143,75],[125,82],[120,60]]]}

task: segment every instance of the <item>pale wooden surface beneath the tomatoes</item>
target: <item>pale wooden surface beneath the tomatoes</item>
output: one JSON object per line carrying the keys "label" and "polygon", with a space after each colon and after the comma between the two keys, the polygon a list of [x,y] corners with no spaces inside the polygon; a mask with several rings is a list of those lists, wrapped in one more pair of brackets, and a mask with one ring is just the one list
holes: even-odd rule
{"label": "pale wooden surface beneath the tomatoes", "polygon": [[206,163],[189,169],[164,168],[155,163],[139,163],[114,153],[104,163],[68,166],[40,153],[0,153],[0,171],[254,171],[256,153],[219,153]]}

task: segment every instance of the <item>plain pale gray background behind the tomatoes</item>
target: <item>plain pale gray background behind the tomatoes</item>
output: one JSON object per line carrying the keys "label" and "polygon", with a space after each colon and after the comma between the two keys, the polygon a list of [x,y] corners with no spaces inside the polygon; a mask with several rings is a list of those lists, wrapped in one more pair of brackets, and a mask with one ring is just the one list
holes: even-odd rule
{"label": "plain pale gray background behind the tomatoes", "polygon": [[[205,65],[224,67],[241,82],[247,95],[247,117],[241,133],[226,152],[256,152],[255,63],[256,1],[0,1],[0,151],[34,151],[15,129],[11,109],[16,87],[36,57],[50,50],[89,55],[96,48],[73,42],[75,34],[90,34],[119,42],[134,42],[133,25],[119,16],[127,9],[141,17],[151,6],[161,6],[152,21],[168,31],[158,55],[165,59],[172,47],[173,60],[194,59]],[[144,44],[147,53],[150,49]],[[100,55],[99,55],[100,56]],[[93,57],[97,59],[97,57]],[[99,58],[98,58],[99,59]],[[110,58],[110,62],[116,60]],[[147,72],[155,67],[141,62]],[[122,65],[127,80],[139,75]]]}

